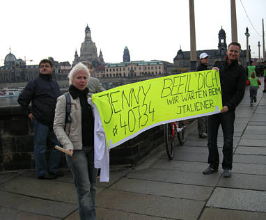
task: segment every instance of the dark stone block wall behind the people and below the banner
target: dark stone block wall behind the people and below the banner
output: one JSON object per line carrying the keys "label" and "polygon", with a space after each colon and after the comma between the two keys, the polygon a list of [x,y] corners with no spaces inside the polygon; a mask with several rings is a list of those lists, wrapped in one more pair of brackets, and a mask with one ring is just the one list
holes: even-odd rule
{"label": "dark stone block wall behind the people and below the banner", "polygon": [[[164,128],[157,126],[110,150],[110,164],[136,164],[164,141]],[[47,157],[51,145],[48,143]],[[62,156],[63,157],[63,156]],[[33,129],[19,106],[0,108],[0,171],[33,169]],[[66,167],[65,157],[61,167]]]}

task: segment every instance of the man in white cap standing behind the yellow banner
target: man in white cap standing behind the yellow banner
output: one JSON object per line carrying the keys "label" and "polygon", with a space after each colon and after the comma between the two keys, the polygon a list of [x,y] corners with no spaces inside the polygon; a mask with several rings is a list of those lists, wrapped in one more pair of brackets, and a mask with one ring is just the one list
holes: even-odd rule
{"label": "man in white cap standing behind the yellow banner", "polygon": [[[208,59],[209,55],[206,53],[202,53],[200,56],[200,65],[197,68],[197,71],[208,70]],[[206,139],[207,135],[207,117],[200,117],[198,118],[198,136],[201,139]]]}

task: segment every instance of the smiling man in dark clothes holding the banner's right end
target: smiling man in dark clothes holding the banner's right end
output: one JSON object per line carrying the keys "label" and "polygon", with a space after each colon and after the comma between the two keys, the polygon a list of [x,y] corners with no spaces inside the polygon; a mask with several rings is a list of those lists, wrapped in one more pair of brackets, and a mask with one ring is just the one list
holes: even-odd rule
{"label": "smiling man in dark clothes holding the banner's right end", "polygon": [[230,178],[232,175],[230,170],[233,164],[235,108],[243,99],[246,88],[245,71],[237,62],[240,57],[240,49],[239,43],[231,42],[226,52],[226,61],[217,61],[214,65],[214,69],[219,70],[223,108],[220,113],[208,116],[208,164],[210,164],[210,166],[203,171],[203,174],[210,174],[218,171],[219,152],[217,148],[217,134],[219,125],[221,125],[224,134],[223,177]]}

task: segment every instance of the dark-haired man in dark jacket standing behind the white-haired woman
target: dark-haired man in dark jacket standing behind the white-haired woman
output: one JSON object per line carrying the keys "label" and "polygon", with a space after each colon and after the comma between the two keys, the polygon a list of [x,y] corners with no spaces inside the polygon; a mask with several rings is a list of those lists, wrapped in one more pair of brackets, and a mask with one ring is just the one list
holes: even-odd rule
{"label": "dark-haired man in dark jacket standing behind the white-haired woman", "polygon": [[[53,131],[54,110],[56,99],[60,95],[60,88],[57,82],[52,79],[52,61],[44,59],[39,63],[39,77],[29,81],[22,93],[19,94],[17,102],[22,113],[31,119],[33,124],[33,140],[36,175],[39,179],[55,179],[63,173],[56,172],[62,153],[54,149],[60,145]],[[31,103],[31,110],[29,104]],[[49,164],[45,157],[47,138],[52,143],[52,151],[49,155]]]}

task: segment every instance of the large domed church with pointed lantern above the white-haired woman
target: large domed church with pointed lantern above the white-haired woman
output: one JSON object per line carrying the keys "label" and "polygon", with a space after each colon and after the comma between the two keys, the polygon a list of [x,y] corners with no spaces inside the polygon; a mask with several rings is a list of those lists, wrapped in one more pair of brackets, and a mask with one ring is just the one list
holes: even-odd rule
{"label": "large domed church with pointed lantern above the white-haired woman", "polygon": [[102,50],[100,50],[100,54],[98,56],[95,42],[91,40],[91,29],[88,27],[88,24],[85,28],[84,42],[81,43],[80,56],[77,54],[77,49],[76,49],[72,66],[76,65],[79,62],[82,62],[85,65],[89,65],[90,63],[92,63],[93,68],[96,68],[99,65],[104,65]]}

